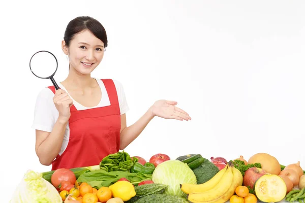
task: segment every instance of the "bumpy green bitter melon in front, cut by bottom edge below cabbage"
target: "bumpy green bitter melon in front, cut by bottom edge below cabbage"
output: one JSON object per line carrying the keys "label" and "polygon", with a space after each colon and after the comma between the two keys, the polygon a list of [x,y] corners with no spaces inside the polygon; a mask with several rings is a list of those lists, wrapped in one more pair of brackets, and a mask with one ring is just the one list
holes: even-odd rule
{"label": "bumpy green bitter melon in front, cut by bottom edge below cabbage", "polygon": [[139,198],[135,203],[189,203],[186,198],[169,194],[149,194]]}

